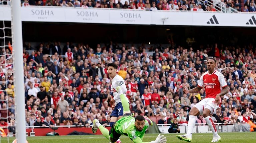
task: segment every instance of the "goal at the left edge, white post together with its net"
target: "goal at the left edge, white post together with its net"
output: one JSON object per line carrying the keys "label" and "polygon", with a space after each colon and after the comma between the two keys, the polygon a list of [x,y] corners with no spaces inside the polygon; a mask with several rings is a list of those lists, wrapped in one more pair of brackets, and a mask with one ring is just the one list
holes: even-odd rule
{"label": "goal at the left edge, white post together with its net", "polygon": [[[5,21],[11,11],[11,21]],[[20,1],[0,0],[0,142],[25,143]]]}

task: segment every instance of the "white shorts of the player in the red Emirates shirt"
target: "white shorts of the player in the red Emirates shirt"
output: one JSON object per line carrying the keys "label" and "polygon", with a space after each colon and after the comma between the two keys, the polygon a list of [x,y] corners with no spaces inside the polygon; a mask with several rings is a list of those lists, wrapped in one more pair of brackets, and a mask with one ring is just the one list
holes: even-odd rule
{"label": "white shorts of the player in the red Emirates shirt", "polygon": [[212,114],[214,110],[219,108],[219,106],[215,103],[214,98],[205,98],[202,101],[200,101],[198,104],[196,104],[194,107],[196,107],[199,110],[200,115],[203,115],[203,111],[205,108],[211,111],[210,114]]}

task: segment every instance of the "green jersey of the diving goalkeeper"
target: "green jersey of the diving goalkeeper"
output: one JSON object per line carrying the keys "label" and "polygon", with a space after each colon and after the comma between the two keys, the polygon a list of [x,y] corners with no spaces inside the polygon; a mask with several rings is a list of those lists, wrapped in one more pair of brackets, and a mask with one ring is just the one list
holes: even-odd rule
{"label": "green jersey of the diving goalkeeper", "polygon": [[136,139],[136,142],[137,140],[140,140],[139,142],[142,142],[144,133],[148,128],[148,125],[148,122],[145,120],[144,128],[142,129],[142,131],[138,131],[135,127],[135,118],[132,116],[124,116],[115,123],[114,129],[117,133],[126,135],[133,141],[139,137],[140,139]]}

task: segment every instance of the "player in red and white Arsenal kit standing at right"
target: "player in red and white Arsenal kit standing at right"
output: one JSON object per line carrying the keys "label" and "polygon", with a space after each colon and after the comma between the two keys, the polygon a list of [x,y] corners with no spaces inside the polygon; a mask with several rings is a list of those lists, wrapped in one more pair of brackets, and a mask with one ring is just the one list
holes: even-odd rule
{"label": "player in red and white Arsenal kit standing at right", "polygon": [[190,90],[183,88],[183,92],[185,94],[188,94],[197,93],[203,87],[205,87],[206,97],[190,110],[188,120],[188,132],[184,135],[177,135],[176,137],[180,140],[191,142],[192,132],[196,122],[196,116],[200,114],[203,115],[210,130],[213,132],[213,139],[211,142],[221,141],[221,138],[215,128],[214,122],[209,115],[212,114],[214,110],[220,107],[220,98],[221,96],[224,96],[228,93],[228,87],[223,74],[215,70],[215,66],[216,60],[214,58],[209,58],[207,60],[208,72],[205,72],[201,76],[200,80],[198,81],[197,87]]}

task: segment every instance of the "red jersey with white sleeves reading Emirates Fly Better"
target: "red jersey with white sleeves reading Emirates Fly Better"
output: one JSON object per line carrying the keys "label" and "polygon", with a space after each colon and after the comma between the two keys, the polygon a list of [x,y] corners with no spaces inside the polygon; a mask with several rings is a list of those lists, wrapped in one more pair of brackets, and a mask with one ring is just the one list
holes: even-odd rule
{"label": "red jersey with white sleeves reading Emirates Fly Better", "polygon": [[205,98],[216,98],[227,83],[223,74],[215,70],[212,74],[205,72],[198,81],[198,86],[205,87]]}

